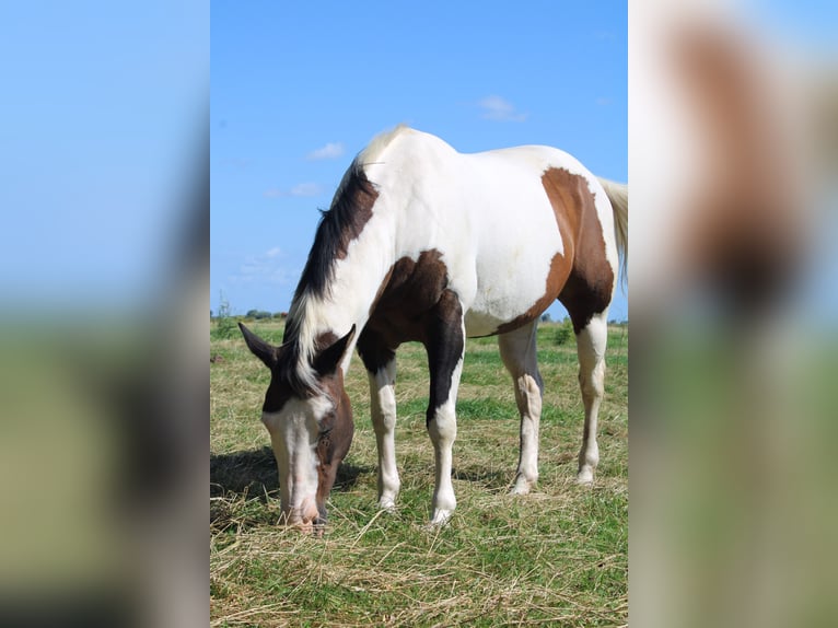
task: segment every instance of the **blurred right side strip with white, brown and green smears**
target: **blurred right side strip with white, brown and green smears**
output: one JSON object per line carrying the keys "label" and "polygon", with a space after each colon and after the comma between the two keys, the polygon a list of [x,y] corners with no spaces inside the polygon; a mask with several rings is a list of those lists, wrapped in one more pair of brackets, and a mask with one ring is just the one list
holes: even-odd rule
{"label": "blurred right side strip with white, brown and green smears", "polygon": [[836,16],[629,7],[636,626],[836,621]]}

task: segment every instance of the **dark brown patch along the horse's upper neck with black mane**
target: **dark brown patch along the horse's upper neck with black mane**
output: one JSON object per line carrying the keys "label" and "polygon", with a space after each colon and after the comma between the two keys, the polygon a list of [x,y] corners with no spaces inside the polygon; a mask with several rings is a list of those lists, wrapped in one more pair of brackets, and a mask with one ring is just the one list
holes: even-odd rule
{"label": "dark brown patch along the horse's upper neck with black mane", "polygon": [[294,301],[303,292],[323,296],[334,275],[335,261],[345,259],[349,244],[357,240],[372,218],[379,198],[375,186],[357,164],[350,166],[331,208],[323,213],[314,236],[314,245],[300,277]]}

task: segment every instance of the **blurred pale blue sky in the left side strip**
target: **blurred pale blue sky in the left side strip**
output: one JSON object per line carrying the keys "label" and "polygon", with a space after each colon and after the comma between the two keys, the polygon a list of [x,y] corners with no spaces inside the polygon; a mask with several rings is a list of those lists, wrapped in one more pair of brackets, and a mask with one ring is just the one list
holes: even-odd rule
{"label": "blurred pale blue sky in the left side strip", "polygon": [[0,306],[136,306],[172,275],[209,28],[202,0],[0,3]]}

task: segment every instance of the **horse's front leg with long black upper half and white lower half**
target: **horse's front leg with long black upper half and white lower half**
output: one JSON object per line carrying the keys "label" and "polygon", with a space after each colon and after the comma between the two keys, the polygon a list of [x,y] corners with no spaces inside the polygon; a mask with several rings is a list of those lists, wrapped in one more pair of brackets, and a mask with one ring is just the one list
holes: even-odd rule
{"label": "horse's front leg with long black upper half and white lower half", "polygon": [[451,290],[442,293],[430,313],[426,332],[424,346],[431,374],[426,418],[435,462],[431,524],[443,525],[457,505],[451,473],[454,440],[457,435],[457,387],[465,351],[463,307]]}

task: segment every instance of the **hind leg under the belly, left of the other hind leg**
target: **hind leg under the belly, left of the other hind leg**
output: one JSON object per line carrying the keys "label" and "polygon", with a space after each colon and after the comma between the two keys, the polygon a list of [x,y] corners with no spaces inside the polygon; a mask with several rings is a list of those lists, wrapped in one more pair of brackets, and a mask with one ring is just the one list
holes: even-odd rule
{"label": "hind leg under the belly, left of the other hind leg", "polygon": [[536,360],[537,322],[498,337],[501,359],[515,387],[521,416],[521,453],[512,495],[526,495],[538,481],[538,429],[544,383]]}

